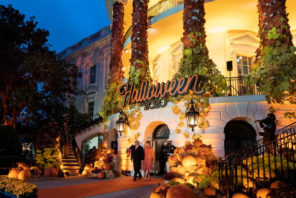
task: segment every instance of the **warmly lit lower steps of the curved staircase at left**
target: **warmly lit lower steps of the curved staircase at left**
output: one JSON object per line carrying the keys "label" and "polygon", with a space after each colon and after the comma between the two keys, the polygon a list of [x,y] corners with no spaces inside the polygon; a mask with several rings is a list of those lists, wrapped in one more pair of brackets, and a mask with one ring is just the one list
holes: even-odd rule
{"label": "warmly lit lower steps of the curved staircase at left", "polygon": [[[68,140],[68,144],[69,144],[69,155],[68,155],[68,159],[62,159],[62,165],[63,165],[63,172],[69,172],[70,175],[78,175],[79,174],[79,165],[77,163],[77,160],[75,158],[74,152],[73,152],[73,148],[72,148],[72,139],[69,138]],[[61,142],[60,142],[60,145]],[[61,151],[61,153],[63,154],[63,146],[59,147],[59,150]]]}

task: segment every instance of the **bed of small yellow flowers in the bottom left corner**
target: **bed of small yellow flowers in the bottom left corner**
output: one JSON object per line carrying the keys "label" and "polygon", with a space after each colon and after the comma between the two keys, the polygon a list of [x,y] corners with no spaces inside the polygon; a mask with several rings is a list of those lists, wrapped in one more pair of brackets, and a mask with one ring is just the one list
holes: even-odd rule
{"label": "bed of small yellow flowers in the bottom left corner", "polygon": [[36,195],[38,187],[16,178],[0,176],[0,192],[5,192],[16,197],[28,197]]}

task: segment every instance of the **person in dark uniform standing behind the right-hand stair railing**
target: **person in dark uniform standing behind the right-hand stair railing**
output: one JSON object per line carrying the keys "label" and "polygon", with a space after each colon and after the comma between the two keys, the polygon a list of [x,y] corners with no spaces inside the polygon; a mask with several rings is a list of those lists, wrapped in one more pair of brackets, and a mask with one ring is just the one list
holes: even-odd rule
{"label": "person in dark uniform standing behind the right-hand stair railing", "polygon": [[276,116],[273,113],[268,113],[266,119],[258,120],[260,127],[264,130],[263,144],[267,144],[265,146],[265,150],[267,151],[267,153],[270,153],[272,155],[276,155],[273,149],[273,147],[276,146],[276,143],[274,142],[273,145],[268,143],[276,140],[274,134],[276,132],[276,123],[274,122],[275,119]]}

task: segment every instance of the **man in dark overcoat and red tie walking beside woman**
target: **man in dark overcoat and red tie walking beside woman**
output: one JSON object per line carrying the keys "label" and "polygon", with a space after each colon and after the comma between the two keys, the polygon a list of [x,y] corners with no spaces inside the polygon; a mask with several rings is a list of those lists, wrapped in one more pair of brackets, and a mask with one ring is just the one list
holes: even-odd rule
{"label": "man in dark overcoat and red tie walking beside woman", "polygon": [[133,175],[133,181],[137,180],[137,175],[139,174],[139,179],[142,178],[141,175],[141,162],[144,161],[144,149],[141,147],[138,140],[135,141],[135,146],[131,150],[131,162],[133,162],[133,169],[135,174]]}

